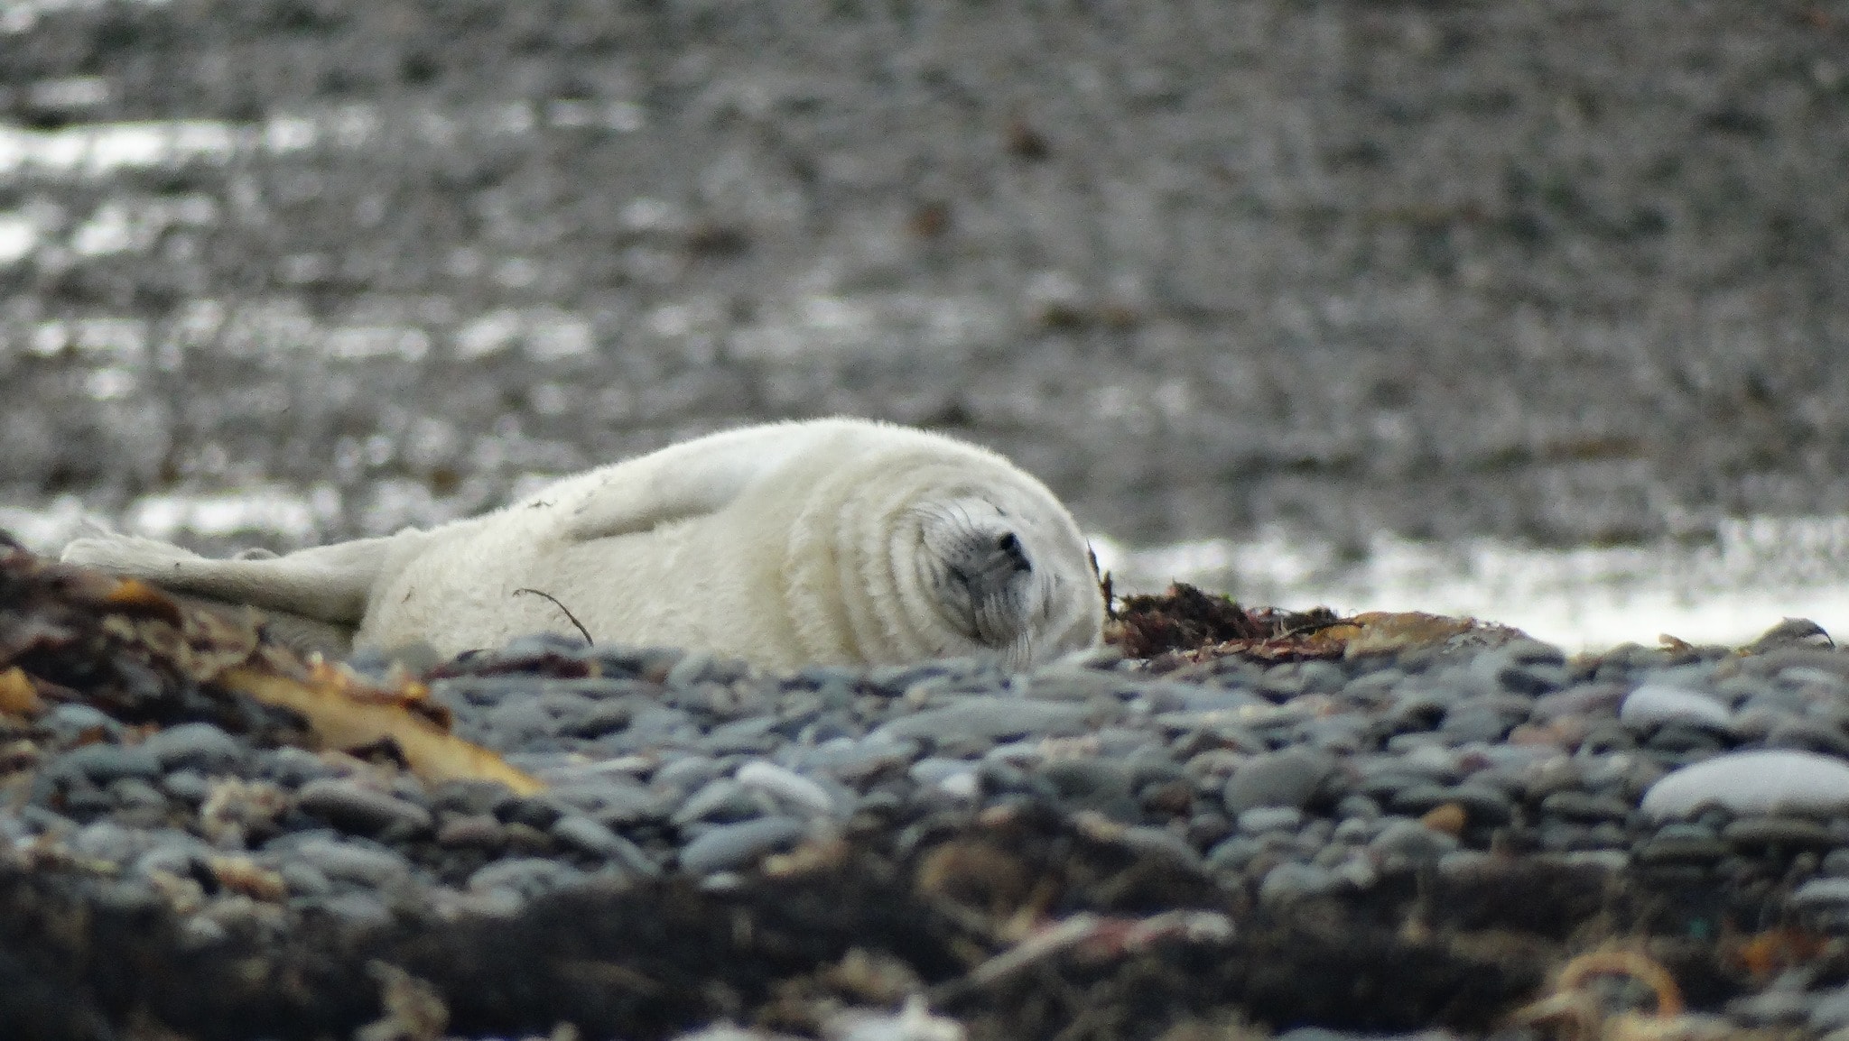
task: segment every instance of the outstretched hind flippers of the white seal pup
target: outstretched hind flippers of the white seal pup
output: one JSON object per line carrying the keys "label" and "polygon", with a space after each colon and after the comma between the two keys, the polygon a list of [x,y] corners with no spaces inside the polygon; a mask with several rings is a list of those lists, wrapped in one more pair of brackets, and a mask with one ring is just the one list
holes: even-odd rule
{"label": "outstretched hind flippers of the white seal pup", "polygon": [[178,545],[124,534],[80,538],[63,560],[141,579],[163,590],[333,625],[359,625],[385,571],[390,544],[403,538],[361,538],[287,557],[211,560]]}

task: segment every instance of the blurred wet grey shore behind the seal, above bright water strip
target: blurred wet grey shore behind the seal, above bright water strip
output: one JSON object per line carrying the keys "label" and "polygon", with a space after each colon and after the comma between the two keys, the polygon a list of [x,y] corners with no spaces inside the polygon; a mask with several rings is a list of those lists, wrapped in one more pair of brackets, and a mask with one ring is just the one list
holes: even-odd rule
{"label": "blurred wet grey shore behind the seal, above bright water strip", "polygon": [[1845,170],[1843,2],[7,2],[0,503],[854,412],[1143,545],[1842,514]]}

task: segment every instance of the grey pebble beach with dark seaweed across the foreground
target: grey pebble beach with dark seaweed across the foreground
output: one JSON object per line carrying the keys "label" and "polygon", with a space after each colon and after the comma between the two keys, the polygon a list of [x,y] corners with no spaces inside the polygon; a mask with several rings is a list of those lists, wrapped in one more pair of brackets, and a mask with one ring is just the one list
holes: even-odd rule
{"label": "grey pebble beach with dark seaweed across the foreground", "polygon": [[68,571],[15,551],[0,612],[15,1037],[1849,1028],[1849,656],[1801,623],[1026,673],[558,636],[344,666],[418,677],[516,793],[207,710],[74,636],[120,608]]}

